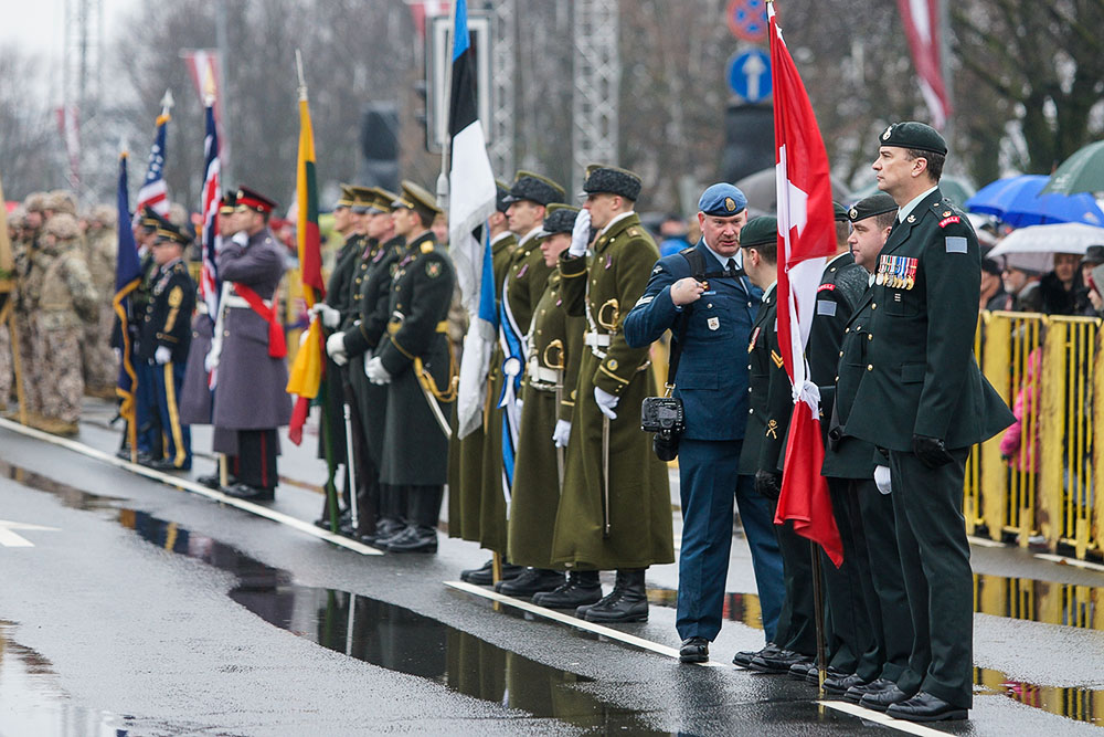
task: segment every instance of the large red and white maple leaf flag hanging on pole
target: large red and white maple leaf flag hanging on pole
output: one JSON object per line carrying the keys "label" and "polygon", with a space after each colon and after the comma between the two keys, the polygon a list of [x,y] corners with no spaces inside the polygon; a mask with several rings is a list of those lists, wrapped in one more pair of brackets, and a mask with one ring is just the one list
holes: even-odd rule
{"label": "large red and white maple leaf flag hanging on pole", "polygon": [[805,345],[813,325],[817,287],[828,257],[836,254],[836,227],[828,155],[813,104],[774,13],[771,75],[774,88],[775,181],[778,188],[778,346],[794,386],[794,415],[783,466],[776,525],[820,544],[836,566],[843,545],[832,515],[828,484],[820,475],[820,392],[809,380]]}

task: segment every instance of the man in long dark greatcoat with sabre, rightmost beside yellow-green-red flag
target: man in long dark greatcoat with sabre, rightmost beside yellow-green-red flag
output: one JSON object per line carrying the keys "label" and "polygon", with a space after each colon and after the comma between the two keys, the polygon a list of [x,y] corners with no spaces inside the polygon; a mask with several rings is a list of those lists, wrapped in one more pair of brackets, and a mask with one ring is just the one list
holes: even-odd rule
{"label": "man in long dark greatcoat with sabre, rightmost beside yellow-green-red flag", "polygon": [[[448,407],[455,400],[456,359],[446,331],[456,272],[429,227],[440,213],[434,197],[411,181],[392,206],[406,252],[391,282],[388,337],[364,366],[388,386],[380,483],[402,489],[406,528],[388,538],[390,552],[436,552],[437,519],[448,475]],[[379,541],[376,545],[381,545]]]}

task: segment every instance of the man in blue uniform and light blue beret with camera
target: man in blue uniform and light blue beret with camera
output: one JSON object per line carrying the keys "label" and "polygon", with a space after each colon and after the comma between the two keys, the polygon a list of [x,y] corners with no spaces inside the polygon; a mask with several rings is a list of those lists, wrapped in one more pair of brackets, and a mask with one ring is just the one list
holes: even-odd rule
{"label": "man in blue uniform and light blue beret with camera", "polygon": [[648,288],[625,318],[629,345],[646,346],[670,329],[672,349],[686,320],[675,377],[687,425],[679,444],[682,545],[676,623],[684,662],[709,660],[709,643],[721,630],[733,496],[751,547],[768,642],[782,608],[773,509],[755,493],[752,477],[739,475],[737,465],[747,421],[747,372],[743,364],[733,368],[732,356],[747,348],[763,296],[743,271],[739,238],[746,206],[732,185],[709,187],[698,202],[701,240],[656,263]]}

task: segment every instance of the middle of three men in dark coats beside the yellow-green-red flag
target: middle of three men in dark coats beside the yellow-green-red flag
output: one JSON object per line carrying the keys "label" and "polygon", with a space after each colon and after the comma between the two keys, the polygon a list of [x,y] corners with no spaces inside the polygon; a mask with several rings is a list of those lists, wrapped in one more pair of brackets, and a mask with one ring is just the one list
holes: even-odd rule
{"label": "middle of three men in dark coats beside the yellow-green-red flag", "polygon": [[[391,313],[388,307],[391,302],[391,282],[399,270],[399,262],[406,253],[406,238],[395,234],[392,202],[397,197],[381,188],[372,188],[374,193],[373,213],[368,215],[368,227],[376,243],[365,250],[369,265],[363,272],[358,285],[359,293],[355,303],[359,305],[359,316],[346,330],[342,337],[344,352],[359,368],[350,370],[350,379],[357,383],[358,403],[361,417],[364,418],[364,438],[367,454],[371,463],[370,473],[374,478],[368,480],[375,484],[375,523],[364,529],[360,539],[369,545],[382,545],[385,540],[406,529],[406,496],[401,488],[380,481],[379,473],[383,463],[384,430],[388,412],[388,387],[374,385],[364,375],[364,361],[380,345],[388,334],[388,322]],[[354,375],[360,371],[360,377]],[[362,528],[364,525],[362,525]]]}

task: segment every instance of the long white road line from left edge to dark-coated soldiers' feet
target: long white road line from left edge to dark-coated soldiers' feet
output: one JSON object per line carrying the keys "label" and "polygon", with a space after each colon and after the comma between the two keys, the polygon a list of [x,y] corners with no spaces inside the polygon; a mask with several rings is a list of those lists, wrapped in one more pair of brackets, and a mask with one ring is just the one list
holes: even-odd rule
{"label": "long white road line from left edge to dark-coated soldiers' feet", "polygon": [[137,463],[130,463],[129,461],[124,461],[117,459],[109,453],[105,453],[100,450],[92,448],[91,445],[85,445],[75,440],[70,440],[68,438],[59,438],[57,435],[52,435],[47,432],[42,432],[41,430],[35,430],[34,428],[28,428],[25,425],[19,424],[18,422],[12,422],[11,420],[0,418],[0,428],[6,430],[11,430],[12,432],[22,433],[29,438],[34,438],[36,440],[44,440],[47,443],[53,443],[66,450],[73,451],[74,453],[79,453],[86,455],[91,459],[97,461],[103,461],[104,463],[109,463],[118,468],[125,468],[131,471],[147,478],[152,478],[153,481],[159,481],[162,484],[168,484],[169,486],[176,486],[185,492],[191,492],[192,494],[199,494],[200,496],[205,496],[209,499],[219,502],[220,504],[225,504],[227,506],[236,507],[242,512],[248,512],[250,514],[257,515],[258,517],[264,517],[270,519],[279,525],[286,525],[300,533],[306,533],[311,537],[317,537],[320,540],[326,540],[327,543],[332,543],[333,545],[340,546],[342,548],[348,548],[354,552],[359,552],[364,556],[382,556],[383,552],[376,550],[375,548],[359,543],[357,540],[351,540],[342,535],[335,535],[329,530],[320,529],[315,527],[309,522],[299,519],[298,517],[293,517],[291,515],[286,515],[283,512],[276,512],[275,509],[269,509],[261,504],[255,504],[254,502],[248,502],[246,499],[236,499],[233,496],[227,496],[222,492],[216,492],[214,489],[208,488],[203,484],[198,484],[194,481],[188,478],[179,478],[172,474],[164,473],[162,471],[156,471],[153,468],[147,468],[144,465]]}

